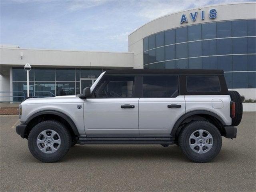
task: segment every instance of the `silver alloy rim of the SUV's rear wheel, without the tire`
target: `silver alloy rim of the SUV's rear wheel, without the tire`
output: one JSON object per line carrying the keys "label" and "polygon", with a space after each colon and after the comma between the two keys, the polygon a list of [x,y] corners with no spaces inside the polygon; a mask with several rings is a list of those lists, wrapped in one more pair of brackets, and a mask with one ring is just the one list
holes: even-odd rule
{"label": "silver alloy rim of the SUV's rear wheel, without the tire", "polygon": [[196,153],[206,153],[212,148],[212,145],[212,135],[204,129],[196,130],[190,135],[189,146]]}

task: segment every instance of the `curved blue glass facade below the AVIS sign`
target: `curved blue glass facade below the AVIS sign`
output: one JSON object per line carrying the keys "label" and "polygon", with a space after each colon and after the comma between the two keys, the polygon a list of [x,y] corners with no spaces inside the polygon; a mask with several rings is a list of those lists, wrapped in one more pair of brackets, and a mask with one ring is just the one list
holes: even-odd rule
{"label": "curved blue glass facade below the AVIS sign", "polygon": [[144,68],[222,69],[228,88],[256,88],[256,20],[184,26],[143,39]]}

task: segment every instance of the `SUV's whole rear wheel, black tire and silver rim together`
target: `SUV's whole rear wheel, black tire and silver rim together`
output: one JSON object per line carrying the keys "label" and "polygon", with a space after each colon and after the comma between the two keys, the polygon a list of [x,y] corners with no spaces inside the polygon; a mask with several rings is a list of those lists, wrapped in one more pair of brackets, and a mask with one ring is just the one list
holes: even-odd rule
{"label": "SUV's whole rear wheel, black tire and silver rim together", "polygon": [[220,131],[207,121],[187,124],[180,133],[179,146],[193,162],[209,162],[218,155],[222,146]]}

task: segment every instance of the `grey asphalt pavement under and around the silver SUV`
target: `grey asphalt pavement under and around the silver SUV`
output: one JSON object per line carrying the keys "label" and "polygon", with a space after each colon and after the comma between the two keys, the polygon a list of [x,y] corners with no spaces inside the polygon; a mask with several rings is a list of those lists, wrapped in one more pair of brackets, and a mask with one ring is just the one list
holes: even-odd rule
{"label": "grey asphalt pavement under and around the silver SUV", "polygon": [[256,191],[256,113],[244,112],[238,138],[223,138],[209,163],[190,162],[178,146],[76,145],[42,163],[0,116],[0,191]]}

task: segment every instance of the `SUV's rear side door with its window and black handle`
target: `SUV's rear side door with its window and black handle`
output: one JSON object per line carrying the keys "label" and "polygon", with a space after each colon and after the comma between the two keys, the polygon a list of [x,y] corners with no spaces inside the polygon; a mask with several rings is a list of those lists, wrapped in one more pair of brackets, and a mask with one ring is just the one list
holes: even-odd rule
{"label": "SUV's rear side door with its window and black handle", "polygon": [[170,135],[176,120],[185,113],[177,75],[142,76],[139,100],[140,135]]}

